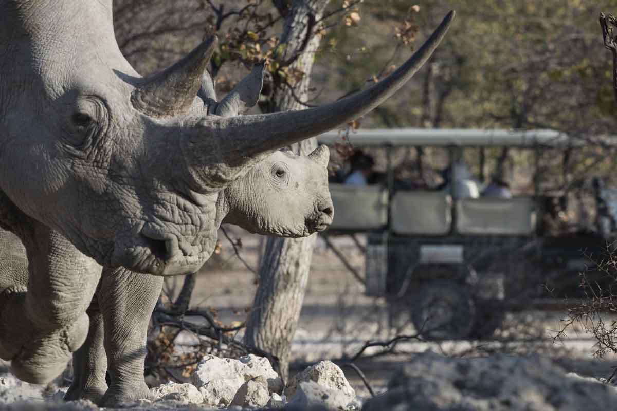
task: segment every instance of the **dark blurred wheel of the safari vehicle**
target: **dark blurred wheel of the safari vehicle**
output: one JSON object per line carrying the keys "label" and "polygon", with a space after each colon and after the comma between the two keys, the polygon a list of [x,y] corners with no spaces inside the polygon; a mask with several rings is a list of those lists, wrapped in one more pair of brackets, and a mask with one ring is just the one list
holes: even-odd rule
{"label": "dark blurred wheel of the safari vehicle", "polygon": [[426,283],[413,298],[412,321],[427,340],[460,340],[473,329],[475,305],[465,285],[451,280]]}

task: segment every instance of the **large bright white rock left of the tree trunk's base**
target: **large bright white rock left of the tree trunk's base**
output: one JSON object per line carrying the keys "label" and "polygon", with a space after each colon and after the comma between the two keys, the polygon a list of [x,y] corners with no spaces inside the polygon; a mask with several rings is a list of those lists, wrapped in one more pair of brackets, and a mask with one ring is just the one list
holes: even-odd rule
{"label": "large bright white rock left of the tree trunk's base", "polygon": [[265,377],[268,393],[280,392],[283,381],[272,369],[268,359],[252,354],[240,359],[205,356],[193,373],[193,384],[204,396],[205,404],[230,405],[238,389],[257,376]]}

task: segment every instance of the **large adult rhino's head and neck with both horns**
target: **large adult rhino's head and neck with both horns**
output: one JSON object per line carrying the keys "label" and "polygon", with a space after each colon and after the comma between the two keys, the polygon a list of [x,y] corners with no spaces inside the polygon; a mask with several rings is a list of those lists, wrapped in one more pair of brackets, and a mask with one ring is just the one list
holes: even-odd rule
{"label": "large adult rhino's head and neck with both horns", "polygon": [[[250,207],[234,210],[225,198],[238,192],[221,195],[227,187],[267,158],[280,163],[285,153],[270,156],[281,147],[387,99],[428,59],[452,18],[453,12],[410,60],[366,91],[308,110],[240,116],[230,113],[246,103],[241,92],[218,104],[198,96],[215,39],[143,78],[118,49],[110,0],[4,1],[0,189],[101,264],[194,272],[215,248],[220,222]],[[319,228],[312,218],[302,233],[280,234]],[[268,222],[249,229],[267,232]]]}

